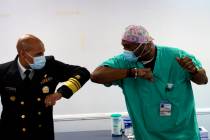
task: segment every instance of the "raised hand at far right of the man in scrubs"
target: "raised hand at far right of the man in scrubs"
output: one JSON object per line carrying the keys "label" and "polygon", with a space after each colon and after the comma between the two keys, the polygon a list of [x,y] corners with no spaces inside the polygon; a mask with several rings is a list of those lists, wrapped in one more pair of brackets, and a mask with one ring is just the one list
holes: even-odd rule
{"label": "raised hand at far right of the man in scrubs", "polygon": [[195,73],[197,72],[197,68],[195,67],[194,63],[192,62],[192,59],[189,57],[183,57],[183,58],[176,58],[177,62],[179,65],[186,69],[190,73]]}

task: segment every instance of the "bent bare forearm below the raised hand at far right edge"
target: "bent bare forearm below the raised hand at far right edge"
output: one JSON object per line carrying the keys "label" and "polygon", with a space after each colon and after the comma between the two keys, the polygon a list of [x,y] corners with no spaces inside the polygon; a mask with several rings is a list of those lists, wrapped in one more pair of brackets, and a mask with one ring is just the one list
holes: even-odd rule
{"label": "bent bare forearm below the raised hand at far right edge", "polygon": [[192,73],[191,75],[191,80],[196,84],[202,85],[208,83],[208,78],[204,69],[200,69],[197,72]]}

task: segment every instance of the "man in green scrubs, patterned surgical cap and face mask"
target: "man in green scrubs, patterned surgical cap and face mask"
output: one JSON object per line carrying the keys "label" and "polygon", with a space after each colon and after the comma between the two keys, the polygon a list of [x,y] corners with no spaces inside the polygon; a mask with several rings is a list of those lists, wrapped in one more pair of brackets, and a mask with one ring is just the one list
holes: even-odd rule
{"label": "man in green scrubs, patterned surgical cap and face mask", "polygon": [[122,46],[124,52],[97,67],[91,80],[122,89],[136,140],[199,140],[191,81],[208,82],[200,61],[155,45],[143,26],[128,26]]}

